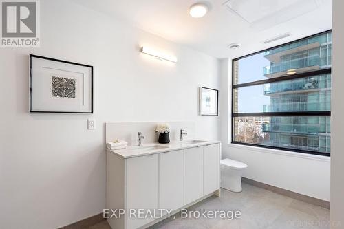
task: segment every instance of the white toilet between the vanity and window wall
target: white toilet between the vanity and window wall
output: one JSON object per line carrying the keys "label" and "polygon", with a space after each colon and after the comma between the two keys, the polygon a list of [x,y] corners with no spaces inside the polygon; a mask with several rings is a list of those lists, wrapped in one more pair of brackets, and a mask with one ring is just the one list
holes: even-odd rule
{"label": "white toilet between the vanity and window wall", "polygon": [[225,188],[232,192],[241,192],[241,177],[247,164],[231,160],[229,158],[222,159],[221,165],[221,188]]}

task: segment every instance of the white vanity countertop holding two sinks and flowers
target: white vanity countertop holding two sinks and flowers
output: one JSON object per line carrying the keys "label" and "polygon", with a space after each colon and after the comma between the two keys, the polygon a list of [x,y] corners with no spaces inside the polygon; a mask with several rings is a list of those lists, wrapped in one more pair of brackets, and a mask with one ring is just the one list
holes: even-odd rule
{"label": "white vanity countertop holding two sinks and flowers", "polygon": [[141,146],[128,146],[127,149],[107,149],[107,151],[122,158],[130,158],[218,143],[221,142],[217,140],[185,140],[182,142],[170,142],[169,144],[142,144]]}

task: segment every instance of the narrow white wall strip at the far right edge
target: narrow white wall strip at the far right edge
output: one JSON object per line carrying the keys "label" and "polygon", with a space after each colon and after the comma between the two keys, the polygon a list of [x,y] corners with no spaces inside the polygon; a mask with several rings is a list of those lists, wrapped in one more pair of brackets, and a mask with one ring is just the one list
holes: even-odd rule
{"label": "narrow white wall strip at the far right edge", "polygon": [[344,1],[333,1],[332,119],[331,119],[331,228],[344,228]]}

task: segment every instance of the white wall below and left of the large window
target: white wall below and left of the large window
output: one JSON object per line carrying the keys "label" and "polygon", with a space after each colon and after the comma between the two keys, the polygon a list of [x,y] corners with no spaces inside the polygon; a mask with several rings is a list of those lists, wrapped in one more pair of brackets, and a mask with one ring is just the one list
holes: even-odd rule
{"label": "white wall below and left of the large window", "polygon": [[228,74],[231,75],[231,65],[232,61],[228,59],[220,63],[222,157],[248,164],[244,177],[330,201],[329,157],[228,144],[231,134],[231,119],[227,118],[230,117],[231,104],[231,78],[228,78]]}

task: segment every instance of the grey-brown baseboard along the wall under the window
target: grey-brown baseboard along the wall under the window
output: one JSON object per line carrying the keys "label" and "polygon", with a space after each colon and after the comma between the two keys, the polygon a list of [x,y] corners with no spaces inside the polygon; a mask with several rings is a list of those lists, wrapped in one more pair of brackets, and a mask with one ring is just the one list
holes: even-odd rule
{"label": "grey-brown baseboard along the wall under the window", "polygon": [[278,187],[272,186],[270,184],[264,184],[261,182],[257,182],[253,179],[248,179],[246,177],[242,177],[242,182],[245,182],[246,184],[251,184],[253,186],[257,186],[259,188],[264,188],[266,190],[270,190],[274,193],[278,193],[280,195],[285,195],[285,196],[293,198],[293,199],[298,199],[298,200],[301,200],[301,201],[306,202],[308,204],[313,204],[316,206],[320,206],[322,208],[330,209],[330,202],[329,201],[325,201],[322,199],[316,199],[314,197],[309,197],[308,195],[302,195],[300,193],[294,193],[290,190],[278,188]]}

